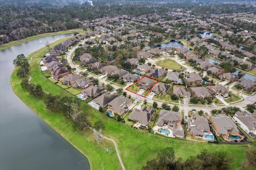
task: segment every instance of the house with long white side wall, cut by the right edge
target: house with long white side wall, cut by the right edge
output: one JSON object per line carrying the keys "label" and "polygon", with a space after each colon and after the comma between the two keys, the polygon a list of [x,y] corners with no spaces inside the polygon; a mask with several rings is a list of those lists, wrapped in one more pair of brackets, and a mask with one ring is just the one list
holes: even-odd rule
{"label": "house with long white side wall, cut by the right edge", "polygon": [[256,117],[253,115],[244,115],[240,111],[237,111],[233,116],[233,120],[246,133],[254,133],[256,135]]}

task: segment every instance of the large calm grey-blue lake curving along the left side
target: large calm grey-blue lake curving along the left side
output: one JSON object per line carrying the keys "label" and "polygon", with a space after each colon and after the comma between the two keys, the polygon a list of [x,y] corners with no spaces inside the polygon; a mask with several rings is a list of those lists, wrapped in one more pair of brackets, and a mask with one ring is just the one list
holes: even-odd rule
{"label": "large calm grey-blue lake curving along the left side", "polygon": [[[0,51],[0,170],[89,170],[88,159],[12,91],[13,60],[73,34],[49,36]],[[40,40],[42,43],[40,43]]]}

